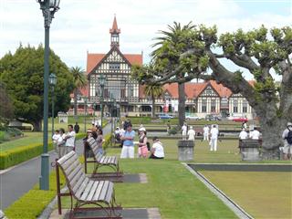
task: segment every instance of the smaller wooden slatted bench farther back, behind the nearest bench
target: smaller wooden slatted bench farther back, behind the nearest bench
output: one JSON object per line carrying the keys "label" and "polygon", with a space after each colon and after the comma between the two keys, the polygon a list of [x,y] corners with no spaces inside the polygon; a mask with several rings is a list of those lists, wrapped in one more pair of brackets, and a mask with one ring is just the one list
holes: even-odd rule
{"label": "smaller wooden slatted bench farther back, behind the nearest bench", "polygon": [[[87,163],[88,162],[94,162],[94,170],[92,175],[99,175],[101,177],[122,177],[123,173],[120,172],[120,167],[119,167],[119,160],[115,156],[103,156],[98,152],[99,146],[97,144],[97,141],[95,141],[94,138],[89,138],[87,140],[89,147],[91,151],[93,152],[93,161],[88,161],[86,154],[84,153],[84,164],[85,164],[85,172],[87,173]],[[99,167],[102,166],[109,166],[114,172],[102,172],[98,173]],[[116,181],[120,182],[120,181]]]}

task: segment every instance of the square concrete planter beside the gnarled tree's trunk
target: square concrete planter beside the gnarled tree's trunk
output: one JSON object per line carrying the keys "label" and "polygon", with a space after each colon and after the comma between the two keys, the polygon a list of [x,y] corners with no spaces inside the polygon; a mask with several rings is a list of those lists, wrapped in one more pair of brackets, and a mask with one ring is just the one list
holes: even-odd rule
{"label": "square concrete planter beside the gnarled tree's trunk", "polygon": [[260,161],[259,148],[261,143],[258,140],[240,140],[239,148],[241,160],[246,162]]}

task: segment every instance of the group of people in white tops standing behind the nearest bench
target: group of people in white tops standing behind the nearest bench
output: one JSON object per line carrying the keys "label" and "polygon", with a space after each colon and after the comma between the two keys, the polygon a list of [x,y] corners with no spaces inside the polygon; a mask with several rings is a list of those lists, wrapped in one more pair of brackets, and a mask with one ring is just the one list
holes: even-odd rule
{"label": "group of people in white tops standing behind the nearest bench", "polygon": [[72,125],[68,125],[68,132],[65,133],[63,128],[55,130],[52,140],[57,151],[58,158],[63,157],[70,151],[75,150],[76,132]]}

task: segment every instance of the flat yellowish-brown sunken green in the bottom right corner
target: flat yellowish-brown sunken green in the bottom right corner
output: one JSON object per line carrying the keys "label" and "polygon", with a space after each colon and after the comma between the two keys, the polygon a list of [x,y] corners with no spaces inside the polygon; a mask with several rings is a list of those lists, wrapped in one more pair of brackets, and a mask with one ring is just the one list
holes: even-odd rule
{"label": "flat yellowish-brown sunken green in the bottom right corner", "polygon": [[291,172],[209,172],[203,175],[255,218],[291,218]]}

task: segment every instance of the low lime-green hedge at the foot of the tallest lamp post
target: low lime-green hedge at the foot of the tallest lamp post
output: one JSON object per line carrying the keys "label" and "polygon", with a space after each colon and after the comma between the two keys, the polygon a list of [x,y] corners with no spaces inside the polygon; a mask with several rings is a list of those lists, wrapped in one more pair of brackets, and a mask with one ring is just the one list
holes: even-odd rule
{"label": "low lime-green hedge at the foot of the tallest lamp post", "polygon": [[[105,136],[104,148],[110,145],[110,134]],[[83,162],[83,156],[79,157]],[[12,203],[5,209],[5,216],[9,219],[37,218],[57,195],[56,172],[53,171],[49,175],[48,191],[39,190],[37,183],[32,190],[21,196],[15,203]],[[65,177],[60,172],[61,188],[65,185]]]}

